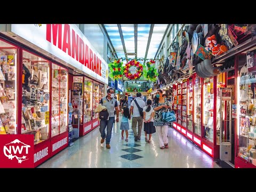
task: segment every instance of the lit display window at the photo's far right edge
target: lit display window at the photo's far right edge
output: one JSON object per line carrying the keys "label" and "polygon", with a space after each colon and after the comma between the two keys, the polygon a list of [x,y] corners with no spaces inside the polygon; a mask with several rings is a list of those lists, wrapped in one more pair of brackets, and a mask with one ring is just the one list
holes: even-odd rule
{"label": "lit display window at the photo's far right edge", "polygon": [[256,64],[249,63],[239,68],[237,84],[237,155],[256,165]]}

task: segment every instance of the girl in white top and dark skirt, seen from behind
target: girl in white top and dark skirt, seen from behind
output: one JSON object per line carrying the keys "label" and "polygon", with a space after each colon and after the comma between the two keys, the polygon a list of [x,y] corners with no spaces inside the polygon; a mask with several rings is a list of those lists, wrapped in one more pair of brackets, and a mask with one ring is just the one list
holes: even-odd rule
{"label": "girl in white top and dark skirt, seen from behind", "polygon": [[[144,121],[144,131],[145,131],[145,141],[150,143],[152,133],[156,132],[156,127],[153,125],[154,122],[154,109],[151,107],[152,101],[148,99],[146,102],[146,106],[143,107],[143,121]],[[149,139],[147,138],[147,134],[149,134]]]}

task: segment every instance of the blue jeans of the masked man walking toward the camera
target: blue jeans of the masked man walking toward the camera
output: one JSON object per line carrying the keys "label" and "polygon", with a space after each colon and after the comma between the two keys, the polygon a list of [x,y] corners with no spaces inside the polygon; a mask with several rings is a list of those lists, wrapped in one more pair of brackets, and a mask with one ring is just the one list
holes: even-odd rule
{"label": "blue jeans of the masked man walking toward the camera", "polygon": [[[106,138],[106,144],[110,143],[112,127],[115,121],[115,117],[109,117],[109,120],[100,120],[100,135],[102,139]],[[106,137],[106,129],[107,126],[107,137]]]}

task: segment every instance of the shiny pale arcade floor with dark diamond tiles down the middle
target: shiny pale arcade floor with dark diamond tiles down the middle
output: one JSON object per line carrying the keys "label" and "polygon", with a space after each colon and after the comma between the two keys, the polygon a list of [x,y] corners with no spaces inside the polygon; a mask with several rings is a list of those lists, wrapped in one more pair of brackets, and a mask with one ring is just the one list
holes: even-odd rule
{"label": "shiny pale arcade floor with dark diamond tiles down the middle", "polygon": [[[120,117],[122,118],[122,117]],[[157,133],[151,143],[145,142],[142,130],[141,140],[134,141],[132,129],[129,141],[121,139],[120,123],[115,123],[110,141],[101,144],[99,128],[74,142],[74,145],[62,150],[48,161],[39,165],[44,167],[182,167],[182,168],[219,168],[212,159],[198,150],[180,133],[169,128],[169,148],[160,149]],[[130,122],[131,127],[131,122]],[[125,135],[125,134],[124,134]]]}

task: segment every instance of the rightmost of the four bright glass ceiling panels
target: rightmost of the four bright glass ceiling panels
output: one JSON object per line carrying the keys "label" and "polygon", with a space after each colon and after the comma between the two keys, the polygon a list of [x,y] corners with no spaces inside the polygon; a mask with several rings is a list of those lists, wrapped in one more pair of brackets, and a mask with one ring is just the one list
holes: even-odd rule
{"label": "rightmost of the four bright glass ceiling panels", "polygon": [[164,32],[168,24],[155,24],[153,29],[153,34],[151,37],[147,59],[153,59],[158,50],[159,44],[162,41]]}

